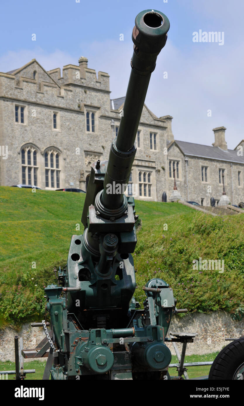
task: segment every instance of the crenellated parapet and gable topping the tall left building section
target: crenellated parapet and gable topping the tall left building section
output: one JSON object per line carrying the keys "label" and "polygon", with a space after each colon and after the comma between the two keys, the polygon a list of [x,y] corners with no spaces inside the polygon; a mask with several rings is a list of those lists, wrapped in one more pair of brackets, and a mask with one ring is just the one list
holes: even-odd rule
{"label": "crenellated parapet and gable topping the tall left building section", "polygon": [[96,71],[84,63],[65,65],[63,76],[60,68],[47,72],[35,59],[20,69],[0,72],[1,98],[83,112],[84,104],[94,105],[94,91],[99,93],[96,97],[103,106],[102,113],[106,114],[110,107],[109,75],[99,71],[97,77]]}

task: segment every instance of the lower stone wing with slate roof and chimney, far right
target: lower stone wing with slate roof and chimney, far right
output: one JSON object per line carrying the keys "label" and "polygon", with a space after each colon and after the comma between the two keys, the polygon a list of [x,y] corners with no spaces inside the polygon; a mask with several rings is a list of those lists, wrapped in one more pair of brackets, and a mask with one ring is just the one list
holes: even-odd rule
{"label": "lower stone wing with slate roof and chimney, far right", "polygon": [[[220,200],[224,187],[231,204],[244,201],[243,149],[228,149],[225,127],[214,128],[213,146],[168,140],[169,188],[173,189],[173,168],[176,185],[185,201],[209,206],[211,197]],[[242,141],[240,145],[242,145]]]}

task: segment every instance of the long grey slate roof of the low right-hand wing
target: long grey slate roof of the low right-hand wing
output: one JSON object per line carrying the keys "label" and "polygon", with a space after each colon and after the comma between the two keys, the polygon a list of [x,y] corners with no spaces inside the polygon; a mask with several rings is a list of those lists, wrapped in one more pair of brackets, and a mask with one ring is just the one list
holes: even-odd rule
{"label": "long grey slate roof of the low right-hand wing", "polygon": [[239,162],[244,164],[244,157],[238,156],[236,150],[228,149],[227,151],[224,151],[219,147],[211,147],[210,145],[187,143],[185,141],[177,140],[174,142],[176,145],[178,145],[183,154],[187,156],[210,158],[219,161]]}

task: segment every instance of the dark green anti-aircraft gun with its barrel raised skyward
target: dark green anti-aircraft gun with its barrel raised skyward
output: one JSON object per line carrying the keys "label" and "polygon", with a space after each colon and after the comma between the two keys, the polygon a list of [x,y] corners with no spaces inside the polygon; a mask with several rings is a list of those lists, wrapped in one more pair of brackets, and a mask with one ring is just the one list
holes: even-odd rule
{"label": "dark green anti-aircraft gun with its barrel raised skyward", "polygon": [[160,379],[168,374],[165,344],[172,313],[172,289],[162,279],[144,287],[144,309],[131,253],[137,243],[135,202],[126,197],[136,153],[135,137],[151,73],[166,44],[170,23],[157,10],[135,19],[134,51],[118,135],[108,161],[91,165],[81,221],[73,235],[61,286],[49,285],[46,309],[53,329],[52,379]]}

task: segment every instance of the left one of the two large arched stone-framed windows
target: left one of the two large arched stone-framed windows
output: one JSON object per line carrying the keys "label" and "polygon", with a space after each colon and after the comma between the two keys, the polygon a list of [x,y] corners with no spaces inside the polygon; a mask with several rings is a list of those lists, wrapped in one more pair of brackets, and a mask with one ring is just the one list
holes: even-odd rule
{"label": "left one of the two large arched stone-framed windows", "polygon": [[[22,151],[24,151],[25,163],[23,164]],[[30,163],[28,163],[28,151],[30,152]],[[36,152],[36,165],[34,165],[34,152]],[[40,166],[41,166],[41,154],[39,148],[32,143],[27,143],[21,146],[20,148],[20,163],[21,163],[21,172],[20,172],[20,183],[31,185],[31,186],[40,186]],[[25,168],[25,183],[23,182],[23,168]],[[30,168],[30,183],[28,179],[29,169]],[[35,169],[36,169],[36,179],[35,179]],[[26,183],[27,182],[27,183]]]}

